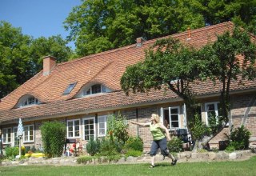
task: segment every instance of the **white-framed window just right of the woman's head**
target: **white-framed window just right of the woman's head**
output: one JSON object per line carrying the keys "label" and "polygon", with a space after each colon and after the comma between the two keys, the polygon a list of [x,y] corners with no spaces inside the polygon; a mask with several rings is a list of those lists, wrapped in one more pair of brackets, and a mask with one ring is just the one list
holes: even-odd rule
{"label": "white-framed window just right of the woman's head", "polygon": [[180,127],[179,107],[168,107],[162,109],[162,119],[168,129]]}

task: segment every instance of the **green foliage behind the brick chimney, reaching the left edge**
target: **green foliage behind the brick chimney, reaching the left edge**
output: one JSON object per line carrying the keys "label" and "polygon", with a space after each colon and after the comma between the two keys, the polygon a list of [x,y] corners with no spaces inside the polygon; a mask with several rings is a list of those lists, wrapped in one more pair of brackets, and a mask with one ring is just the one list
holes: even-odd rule
{"label": "green foliage behind the brick chimney, reaching the left edge", "polygon": [[59,35],[32,38],[8,22],[0,22],[0,98],[42,70],[42,58],[53,55],[57,62],[67,61],[72,54]]}

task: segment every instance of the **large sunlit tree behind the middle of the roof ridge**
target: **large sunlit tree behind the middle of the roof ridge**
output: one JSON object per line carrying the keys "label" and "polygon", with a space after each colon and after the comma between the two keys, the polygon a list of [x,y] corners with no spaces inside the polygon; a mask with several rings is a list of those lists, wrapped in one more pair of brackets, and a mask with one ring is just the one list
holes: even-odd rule
{"label": "large sunlit tree behind the middle of the roof ridge", "polygon": [[83,56],[132,44],[138,37],[158,38],[187,26],[204,26],[197,6],[195,0],[88,0],[76,6],[64,23]]}

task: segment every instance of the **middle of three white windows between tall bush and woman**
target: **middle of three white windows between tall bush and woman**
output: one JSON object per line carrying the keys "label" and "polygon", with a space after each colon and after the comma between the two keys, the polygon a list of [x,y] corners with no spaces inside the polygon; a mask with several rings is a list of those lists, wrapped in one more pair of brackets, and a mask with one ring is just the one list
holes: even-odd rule
{"label": "middle of three white windows between tall bush and woman", "polygon": [[83,118],[82,124],[84,140],[89,141],[90,138],[95,139],[95,118]]}

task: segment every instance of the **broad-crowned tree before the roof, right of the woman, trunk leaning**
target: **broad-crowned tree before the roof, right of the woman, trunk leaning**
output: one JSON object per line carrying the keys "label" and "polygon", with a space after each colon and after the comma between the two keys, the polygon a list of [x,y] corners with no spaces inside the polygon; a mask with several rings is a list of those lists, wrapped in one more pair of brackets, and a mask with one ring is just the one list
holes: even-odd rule
{"label": "broad-crowned tree before the roof, right of the woman, trunk leaning", "polygon": [[200,57],[200,51],[183,46],[173,38],[161,39],[146,52],[143,62],[128,66],[122,75],[122,90],[146,92],[154,88],[170,89],[186,103],[190,117],[194,117],[194,95],[191,83],[202,79],[202,70],[206,62]]}

